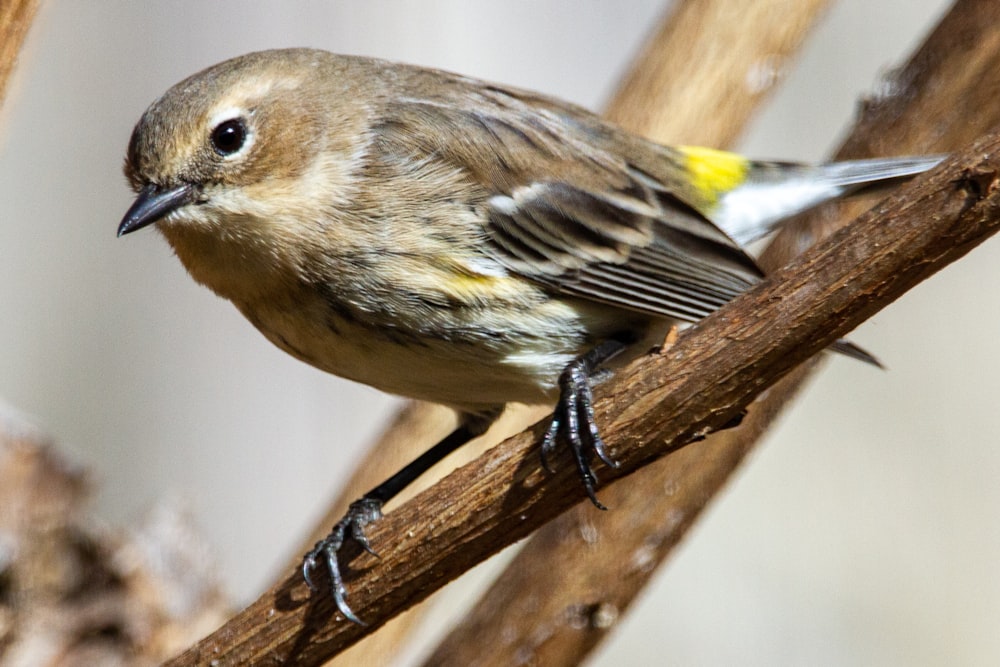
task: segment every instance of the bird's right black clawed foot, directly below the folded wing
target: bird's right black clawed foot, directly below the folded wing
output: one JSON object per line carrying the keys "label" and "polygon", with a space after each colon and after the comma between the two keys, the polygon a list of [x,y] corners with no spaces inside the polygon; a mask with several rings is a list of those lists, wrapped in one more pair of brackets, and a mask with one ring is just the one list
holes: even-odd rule
{"label": "bird's right black clawed foot, directly below the folded wing", "polygon": [[626,342],[612,338],[577,357],[566,366],[559,376],[559,401],[552,414],[552,424],[542,441],[542,465],[550,471],[549,458],[556,442],[559,439],[566,441],[587,496],[599,509],[606,508],[597,500],[595,493],[597,478],[590,468],[591,458],[596,454],[597,458],[612,468],[617,468],[618,463],[608,455],[594,420],[594,395],[590,385],[601,364],[626,347],[628,347]]}

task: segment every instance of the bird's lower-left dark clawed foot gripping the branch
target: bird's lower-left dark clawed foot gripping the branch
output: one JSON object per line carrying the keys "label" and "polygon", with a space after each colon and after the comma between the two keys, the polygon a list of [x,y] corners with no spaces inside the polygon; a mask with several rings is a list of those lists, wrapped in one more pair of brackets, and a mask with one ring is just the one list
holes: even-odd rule
{"label": "bird's lower-left dark clawed foot gripping the branch", "polygon": [[330,577],[330,593],[337,609],[349,621],[358,625],[366,625],[359,619],[351,607],[347,604],[347,588],[344,586],[344,579],[340,573],[340,561],[338,554],[344,542],[348,539],[354,540],[358,546],[378,557],[372,549],[365,535],[365,526],[382,518],[382,501],[377,498],[362,498],[351,503],[347,514],[334,525],[330,534],[316,543],[309,553],[302,559],[302,578],[305,579],[309,590],[316,592],[319,587],[313,580],[312,573],[322,562],[326,566],[327,574]]}

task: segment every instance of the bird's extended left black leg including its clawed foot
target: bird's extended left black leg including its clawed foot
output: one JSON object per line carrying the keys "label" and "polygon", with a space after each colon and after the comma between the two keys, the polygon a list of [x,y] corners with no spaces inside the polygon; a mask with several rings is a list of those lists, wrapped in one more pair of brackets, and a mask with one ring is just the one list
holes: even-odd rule
{"label": "bird's extended left black leg including its clawed foot", "polygon": [[481,435],[496,418],[499,411],[487,416],[466,417],[463,423],[436,445],[418,456],[402,470],[351,503],[347,514],[334,526],[330,534],[316,543],[302,559],[302,578],[310,590],[318,590],[313,573],[325,568],[330,577],[330,592],[337,609],[350,621],[364,625],[347,604],[343,576],[340,571],[339,553],[347,540],[353,540],[362,549],[378,556],[368,542],[365,526],[382,518],[382,506],[389,502],[411,482],[427,472],[438,461],[478,435]]}

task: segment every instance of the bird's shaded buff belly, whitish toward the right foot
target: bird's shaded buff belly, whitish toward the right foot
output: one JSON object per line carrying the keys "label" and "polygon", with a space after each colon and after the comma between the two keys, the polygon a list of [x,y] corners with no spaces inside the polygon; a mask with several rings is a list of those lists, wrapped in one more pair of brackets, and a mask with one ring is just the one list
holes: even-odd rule
{"label": "bird's shaded buff belly, whitish toward the right foot", "polygon": [[579,313],[566,304],[517,318],[524,321],[479,312],[474,325],[457,313],[437,322],[397,317],[379,323],[302,299],[293,309],[240,310],[271,342],[316,368],[467,410],[553,401],[559,373],[589,338]]}

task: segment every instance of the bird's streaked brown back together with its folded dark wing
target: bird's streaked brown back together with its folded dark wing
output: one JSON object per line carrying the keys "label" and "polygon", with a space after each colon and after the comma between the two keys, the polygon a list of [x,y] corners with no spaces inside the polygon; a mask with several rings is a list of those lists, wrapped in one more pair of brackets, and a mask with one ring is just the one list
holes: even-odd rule
{"label": "bird's streaked brown back together with its folded dark wing", "polygon": [[678,154],[586,111],[476,88],[397,98],[385,117],[376,132],[397,150],[433,155],[483,188],[484,251],[558,292],[694,321],[763,275],[688,203]]}

